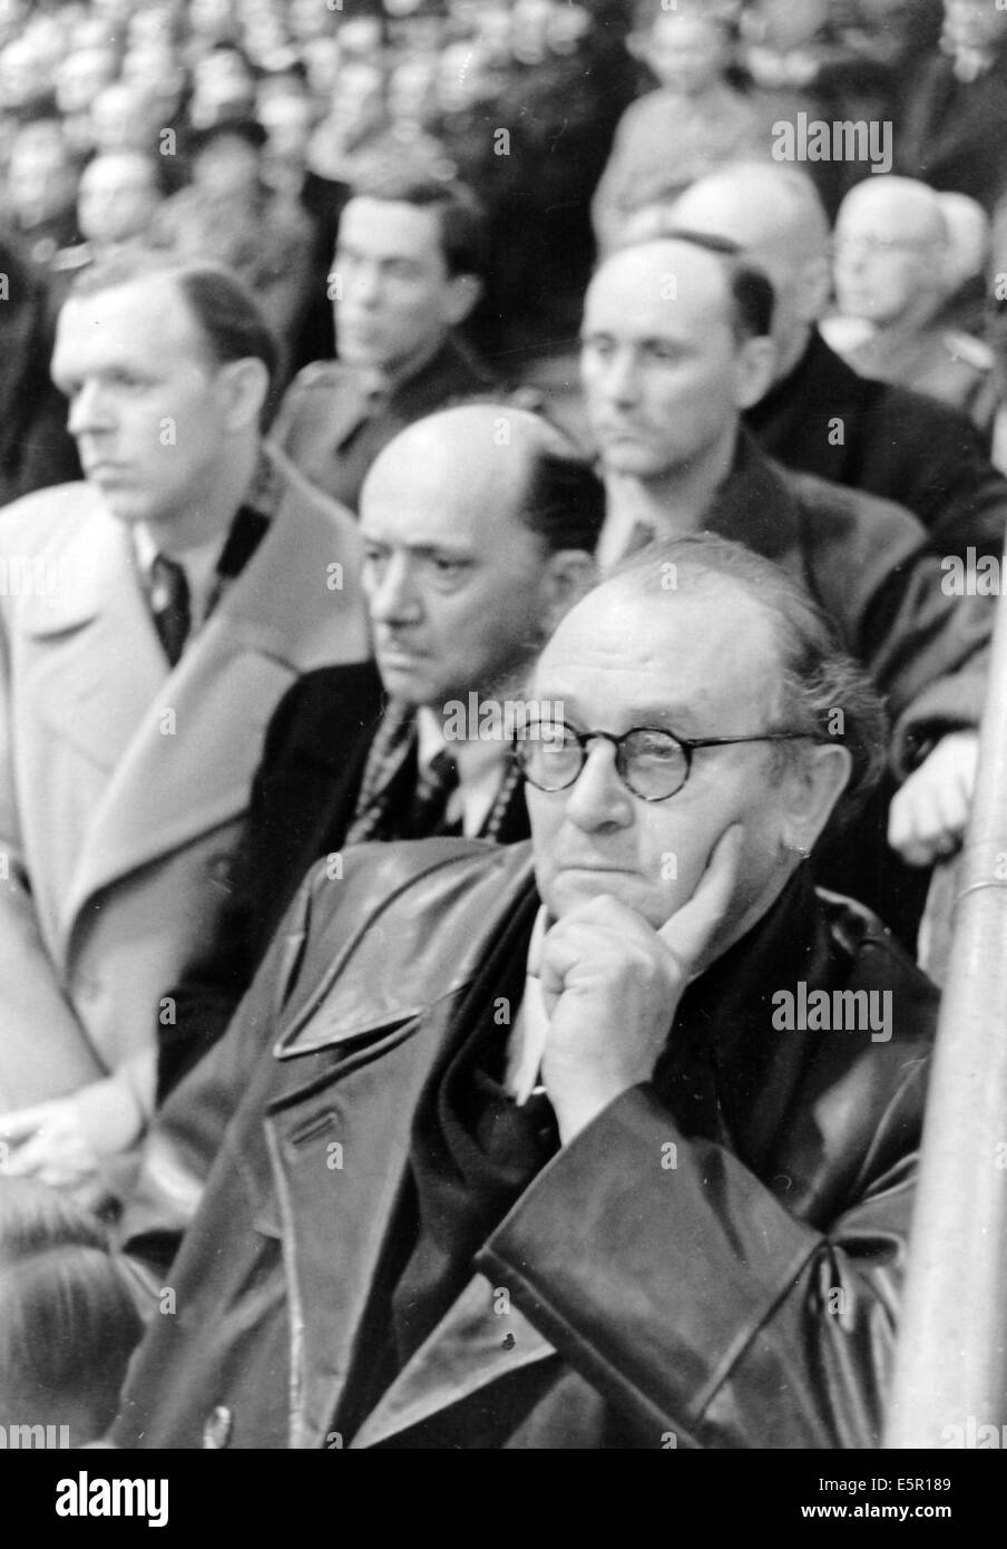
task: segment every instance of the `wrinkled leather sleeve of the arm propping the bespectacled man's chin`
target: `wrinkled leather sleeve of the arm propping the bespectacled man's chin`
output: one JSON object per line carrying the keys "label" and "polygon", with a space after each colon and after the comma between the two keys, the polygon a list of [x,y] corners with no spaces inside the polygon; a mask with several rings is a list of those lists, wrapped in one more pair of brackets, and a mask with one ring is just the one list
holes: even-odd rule
{"label": "wrinkled leather sleeve of the arm propping the bespectacled man's chin", "polygon": [[637,1445],[877,1447],[922,1097],[916,1067],[823,1231],[632,1087],[539,1174],[479,1269]]}

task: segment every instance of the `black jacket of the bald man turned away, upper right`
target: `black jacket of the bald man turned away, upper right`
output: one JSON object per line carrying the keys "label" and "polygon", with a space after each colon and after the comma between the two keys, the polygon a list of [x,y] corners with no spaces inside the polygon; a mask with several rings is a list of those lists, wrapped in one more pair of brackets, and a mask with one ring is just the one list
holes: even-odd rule
{"label": "black jacket of the bald man turned away, upper right", "polygon": [[745,420],[789,468],[908,507],[939,553],[964,556],[974,545],[999,558],[1007,480],[971,421],[923,393],[858,376],[820,333]]}

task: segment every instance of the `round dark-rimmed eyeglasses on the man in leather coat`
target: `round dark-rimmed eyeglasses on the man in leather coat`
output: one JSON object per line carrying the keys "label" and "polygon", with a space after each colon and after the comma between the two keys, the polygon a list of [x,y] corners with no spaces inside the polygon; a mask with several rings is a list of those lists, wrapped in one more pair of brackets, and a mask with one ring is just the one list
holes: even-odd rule
{"label": "round dark-rimmed eyeglasses on the man in leather coat", "polygon": [[748,737],[675,737],[660,726],[632,726],[621,737],[610,731],[575,731],[562,720],[531,720],[514,733],[513,754],[536,790],[567,790],[587,764],[587,745],[601,737],[615,748],[615,773],[640,801],[668,801],[689,778],[696,748],[725,748],[736,742],[798,742],[809,731],[758,731]]}

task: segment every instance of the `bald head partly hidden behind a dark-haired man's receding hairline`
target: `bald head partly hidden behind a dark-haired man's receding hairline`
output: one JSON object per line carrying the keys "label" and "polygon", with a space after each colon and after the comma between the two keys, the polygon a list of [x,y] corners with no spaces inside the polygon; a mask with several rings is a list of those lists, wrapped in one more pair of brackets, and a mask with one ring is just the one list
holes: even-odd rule
{"label": "bald head partly hidden behind a dark-haired man's receding hairline", "polygon": [[829,220],[806,172],[739,161],[699,178],[666,215],[674,226],[736,243],[776,291],[778,375],[787,375],[829,299]]}

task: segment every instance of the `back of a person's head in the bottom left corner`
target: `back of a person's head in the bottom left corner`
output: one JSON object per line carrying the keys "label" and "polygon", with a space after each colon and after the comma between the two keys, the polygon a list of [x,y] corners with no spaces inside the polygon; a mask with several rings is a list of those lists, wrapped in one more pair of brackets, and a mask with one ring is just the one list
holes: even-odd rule
{"label": "back of a person's head in the bottom left corner", "polygon": [[101,1222],[45,1183],[0,1174],[5,1436],[29,1428],[37,1436],[34,1428],[42,1427],[46,1447],[98,1441],[115,1419],[141,1334],[127,1276]]}

